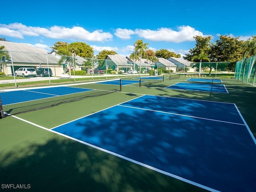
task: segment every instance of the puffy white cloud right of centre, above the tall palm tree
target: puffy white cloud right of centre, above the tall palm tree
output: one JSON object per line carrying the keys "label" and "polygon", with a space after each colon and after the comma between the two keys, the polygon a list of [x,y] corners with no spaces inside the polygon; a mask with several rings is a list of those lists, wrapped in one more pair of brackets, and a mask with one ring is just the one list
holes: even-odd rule
{"label": "puffy white cloud right of centre, above the tall palm tree", "polygon": [[180,43],[185,41],[194,41],[194,36],[203,36],[203,33],[195,30],[190,26],[180,26],[178,31],[170,28],[160,28],[158,30],[142,30],[136,29],[135,33],[146,40],[152,41],[166,41]]}

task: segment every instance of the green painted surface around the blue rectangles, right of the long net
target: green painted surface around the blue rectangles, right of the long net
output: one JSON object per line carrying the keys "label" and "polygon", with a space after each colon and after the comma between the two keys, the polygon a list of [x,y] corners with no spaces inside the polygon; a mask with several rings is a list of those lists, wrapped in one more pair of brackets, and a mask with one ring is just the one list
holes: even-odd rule
{"label": "green painted surface around the blue rectangles, right of the long net", "polygon": [[[234,103],[256,136],[256,88],[232,78],[222,78],[228,94],[165,89],[187,79],[164,80],[145,87],[122,86],[121,92],[0,119],[1,186],[29,184],[30,188],[25,191],[207,191],[49,131],[147,94]],[[211,108],[208,111],[210,113]],[[150,118],[138,118],[150,121]],[[11,190],[1,188],[0,191]]]}

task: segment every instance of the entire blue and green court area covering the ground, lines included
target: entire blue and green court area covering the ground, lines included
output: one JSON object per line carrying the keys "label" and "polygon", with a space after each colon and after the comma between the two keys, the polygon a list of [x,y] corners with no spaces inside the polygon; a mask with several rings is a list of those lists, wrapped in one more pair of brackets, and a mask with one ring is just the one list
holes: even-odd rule
{"label": "entire blue and green court area covering the ground, lines included", "polygon": [[79,96],[0,120],[0,180],[36,191],[255,191],[255,91],[233,79],[216,87],[229,94],[162,87],[186,80],[138,87],[124,78],[122,91],[118,79],[0,92],[13,98],[2,99],[10,114],[21,103]]}

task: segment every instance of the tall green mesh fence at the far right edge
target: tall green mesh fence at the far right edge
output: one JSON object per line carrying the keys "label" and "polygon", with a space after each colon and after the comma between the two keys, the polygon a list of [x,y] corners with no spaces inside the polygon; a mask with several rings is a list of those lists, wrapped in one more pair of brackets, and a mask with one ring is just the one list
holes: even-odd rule
{"label": "tall green mesh fence at the far right edge", "polygon": [[234,78],[256,86],[256,55],[236,62]]}

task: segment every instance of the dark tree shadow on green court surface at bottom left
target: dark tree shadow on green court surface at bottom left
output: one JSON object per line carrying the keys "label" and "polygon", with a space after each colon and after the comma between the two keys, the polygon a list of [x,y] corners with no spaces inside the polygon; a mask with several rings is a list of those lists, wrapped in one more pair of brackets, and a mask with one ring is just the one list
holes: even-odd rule
{"label": "dark tree shadow on green court surface at bottom left", "polygon": [[60,136],[2,153],[0,162],[1,184],[30,184],[26,191],[204,191]]}

